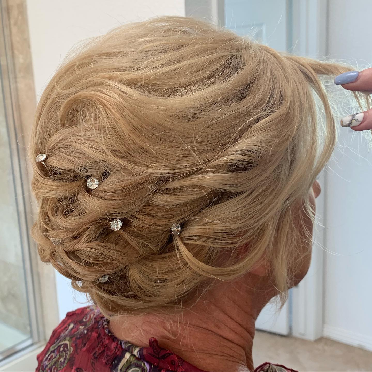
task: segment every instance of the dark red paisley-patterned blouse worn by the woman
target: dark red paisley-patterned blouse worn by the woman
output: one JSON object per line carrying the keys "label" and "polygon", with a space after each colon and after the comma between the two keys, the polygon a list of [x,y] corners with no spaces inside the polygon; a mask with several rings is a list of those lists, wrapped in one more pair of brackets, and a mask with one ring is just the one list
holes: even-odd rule
{"label": "dark red paisley-patterned blouse worn by the woman", "polygon": [[[117,339],[96,306],[68,312],[38,355],[38,371],[201,371],[151,338],[149,347]],[[293,371],[264,363],[255,371]]]}

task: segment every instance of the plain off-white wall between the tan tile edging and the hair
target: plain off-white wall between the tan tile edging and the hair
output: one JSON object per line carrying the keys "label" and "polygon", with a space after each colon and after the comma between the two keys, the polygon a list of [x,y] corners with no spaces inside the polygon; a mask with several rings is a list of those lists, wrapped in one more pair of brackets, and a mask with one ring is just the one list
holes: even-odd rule
{"label": "plain off-white wall between the tan tile edging and the hair", "polygon": [[[70,48],[101,35],[121,23],[162,15],[185,15],[184,0],[27,0],[29,33],[36,95]],[[60,319],[82,306],[85,296],[72,291],[69,281],[56,275]]]}

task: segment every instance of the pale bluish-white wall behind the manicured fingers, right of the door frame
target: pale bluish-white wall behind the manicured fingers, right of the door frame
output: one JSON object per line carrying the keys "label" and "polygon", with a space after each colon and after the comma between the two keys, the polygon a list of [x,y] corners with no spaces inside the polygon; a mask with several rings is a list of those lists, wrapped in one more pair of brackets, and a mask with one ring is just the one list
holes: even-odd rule
{"label": "pale bluish-white wall behind the manicured fingers, right of the door frame", "polygon": [[[372,64],[371,14],[370,0],[329,1],[330,58]],[[325,253],[324,335],[372,350],[372,154],[350,131],[340,130],[323,190],[325,247],[335,252]]]}

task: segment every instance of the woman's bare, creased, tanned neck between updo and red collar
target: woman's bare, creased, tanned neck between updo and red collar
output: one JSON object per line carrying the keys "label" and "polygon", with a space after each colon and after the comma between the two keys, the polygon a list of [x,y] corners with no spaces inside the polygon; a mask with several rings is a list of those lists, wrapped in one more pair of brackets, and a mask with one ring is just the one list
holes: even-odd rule
{"label": "woman's bare, creased, tanned neck between updo and red collar", "polygon": [[177,316],[117,317],[110,330],[137,346],[148,346],[155,337],[161,347],[203,371],[253,371],[255,321],[270,296],[243,280],[219,283]]}

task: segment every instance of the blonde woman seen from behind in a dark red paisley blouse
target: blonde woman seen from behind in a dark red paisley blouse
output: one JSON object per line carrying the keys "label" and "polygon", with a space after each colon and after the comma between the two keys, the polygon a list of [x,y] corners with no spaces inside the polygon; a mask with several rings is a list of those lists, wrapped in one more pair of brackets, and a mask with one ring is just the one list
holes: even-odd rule
{"label": "blonde woman seen from behind in a dark red paisley blouse", "polygon": [[310,264],[336,138],[319,75],[348,70],[182,17],[71,55],[35,116],[33,237],[94,305],[36,370],[253,371],[259,312]]}

